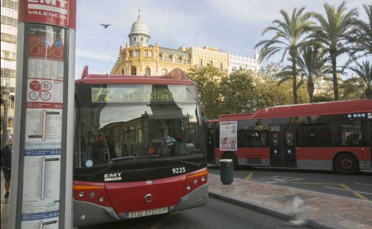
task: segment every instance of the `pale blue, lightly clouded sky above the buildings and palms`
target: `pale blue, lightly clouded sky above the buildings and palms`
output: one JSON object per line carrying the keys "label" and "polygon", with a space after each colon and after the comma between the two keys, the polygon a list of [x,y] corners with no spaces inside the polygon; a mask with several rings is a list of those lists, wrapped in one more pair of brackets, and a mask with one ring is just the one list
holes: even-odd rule
{"label": "pale blue, lightly clouded sky above the buildings and palms", "polygon": [[[338,6],[341,0],[328,0]],[[360,18],[367,19],[362,8],[367,0],[349,0],[347,8],[359,8]],[[76,26],[75,78],[81,77],[84,65],[90,73],[110,73],[119,55],[119,47],[129,43],[128,34],[141,9],[142,20],[150,33],[150,45],[178,49],[180,46],[211,46],[235,55],[252,58],[254,46],[273,33],[261,35],[275,19],[282,19],[280,9],[292,13],[294,7],[324,14],[318,0],[78,0]],[[102,24],[112,24],[104,29]],[[196,34],[198,34],[196,36]],[[196,38],[196,39],[195,39]],[[275,55],[263,62],[278,62]],[[346,56],[340,56],[340,63]]]}

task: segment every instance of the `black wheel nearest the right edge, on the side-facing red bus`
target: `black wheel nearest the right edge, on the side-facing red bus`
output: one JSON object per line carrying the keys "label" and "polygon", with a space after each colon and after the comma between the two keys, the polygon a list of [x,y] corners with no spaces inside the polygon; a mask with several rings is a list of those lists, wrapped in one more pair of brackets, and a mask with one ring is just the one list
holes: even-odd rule
{"label": "black wheel nearest the right edge, on the side-facing red bus", "polygon": [[336,170],[343,175],[354,175],[359,170],[357,158],[351,153],[342,153],[336,157]]}

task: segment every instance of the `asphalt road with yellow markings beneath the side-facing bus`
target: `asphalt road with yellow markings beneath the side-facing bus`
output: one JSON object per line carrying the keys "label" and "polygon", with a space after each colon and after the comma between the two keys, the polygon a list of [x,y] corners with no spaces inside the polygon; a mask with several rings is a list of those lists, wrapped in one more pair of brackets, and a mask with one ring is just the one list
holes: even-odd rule
{"label": "asphalt road with yellow markings beneath the side-facing bus", "polygon": [[[219,167],[209,165],[208,172],[219,174]],[[331,170],[240,167],[238,170],[234,170],[234,177],[356,199],[372,200],[371,170],[360,170],[356,175],[341,175]]]}

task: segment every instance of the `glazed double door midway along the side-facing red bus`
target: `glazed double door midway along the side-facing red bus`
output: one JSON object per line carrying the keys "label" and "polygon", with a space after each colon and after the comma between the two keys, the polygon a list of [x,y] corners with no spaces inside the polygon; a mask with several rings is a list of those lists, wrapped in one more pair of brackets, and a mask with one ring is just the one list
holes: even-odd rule
{"label": "glazed double door midway along the side-facing red bus", "polygon": [[270,125],[270,165],[296,166],[295,125]]}

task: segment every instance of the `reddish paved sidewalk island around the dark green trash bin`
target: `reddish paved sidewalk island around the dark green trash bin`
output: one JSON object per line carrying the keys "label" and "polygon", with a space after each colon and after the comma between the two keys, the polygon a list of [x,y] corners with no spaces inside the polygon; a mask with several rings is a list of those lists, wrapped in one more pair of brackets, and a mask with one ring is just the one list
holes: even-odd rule
{"label": "reddish paved sidewalk island around the dark green trash bin", "polygon": [[269,215],[289,219],[286,213],[294,196],[304,199],[311,228],[372,229],[372,202],[234,178],[224,185],[220,176],[208,174],[209,196]]}

